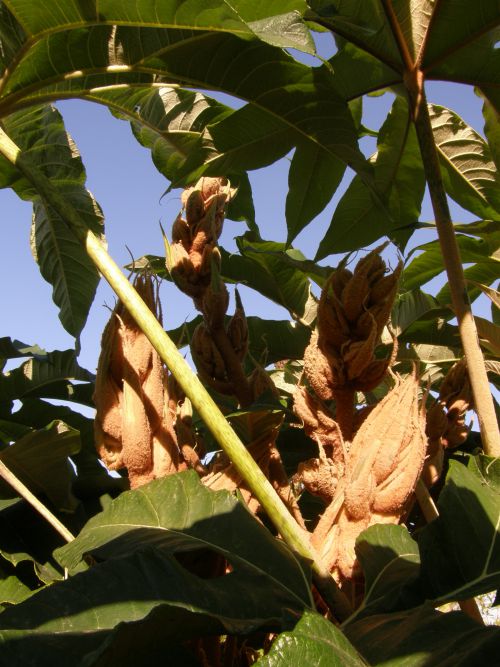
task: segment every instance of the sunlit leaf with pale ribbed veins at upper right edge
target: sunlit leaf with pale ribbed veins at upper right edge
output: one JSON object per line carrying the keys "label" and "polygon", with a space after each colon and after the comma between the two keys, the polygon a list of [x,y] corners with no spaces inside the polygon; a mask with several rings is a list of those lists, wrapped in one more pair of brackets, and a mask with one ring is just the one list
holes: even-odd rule
{"label": "sunlit leaf with pale ribbed veins at upper right edge", "polygon": [[429,105],[446,192],[480,218],[500,213],[500,175],[488,144],[456,113]]}

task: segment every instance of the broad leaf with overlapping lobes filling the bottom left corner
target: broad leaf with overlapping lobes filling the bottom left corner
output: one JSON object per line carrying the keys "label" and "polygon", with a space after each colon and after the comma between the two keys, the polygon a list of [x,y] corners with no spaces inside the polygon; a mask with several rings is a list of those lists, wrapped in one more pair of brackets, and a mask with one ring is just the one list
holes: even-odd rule
{"label": "broad leaf with overlapping lobes filling the bottom left corner", "polygon": [[[230,561],[229,574],[190,571],[186,552],[207,548]],[[234,496],[191,472],[122,494],[57,553],[72,567],[89,552],[104,562],[0,615],[0,664],[37,652],[38,664],[95,664],[120,651],[120,664],[149,664],[150,651],[193,636],[285,630],[312,604],[299,561]]]}

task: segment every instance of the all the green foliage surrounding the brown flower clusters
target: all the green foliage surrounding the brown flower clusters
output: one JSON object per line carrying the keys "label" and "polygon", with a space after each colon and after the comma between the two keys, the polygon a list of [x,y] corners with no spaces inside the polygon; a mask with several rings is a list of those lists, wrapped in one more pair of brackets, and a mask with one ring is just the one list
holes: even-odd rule
{"label": "all the green foliage surrounding the brown flower clusters", "polygon": [[[319,260],[386,237],[400,253],[411,248],[382,342],[395,335],[397,370],[418,362],[433,390],[462,356],[450,285],[424,291],[442,277],[443,246],[434,223],[420,219],[430,158],[417,137],[408,59],[426,80],[474,86],[483,100],[484,137],[430,100],[427,140],[437,150],[443,196],[477,217],[457,221],[455,236],[469,297],[492,301],[493,321],[479,318],[478,329],[498,387],[499,17],[498,0],[0,0],[0,125],[24,164],[42,172],[98,236],[103,213],[52,106],[58,100],[105,105],[130,122],[169,189],[202,175],[237,187],[228,216],[248,231],[237,237],[237,252],[221,248],[220,277],[289,317],[247,318],[246,363],[253,370],[282,362],[271,369],[277,395],[244,409],[229,399],[221,405],[247,444],[281,426],[276,447],[293,482],[299,465],[318,456],[317,443],[297,428],[291,396],[315,325],[317,288],[331,272]],[[333,34],[329,61],[315,56],[310,28]],[[387,118],[367,130],[363,98],[388,91]],[[232,96],[234,108],[218,93]],[[368,160],[359,147],[366,134],[376,137]],[[256,220],[248,176],[284,156],[291,158],[286,243],[272,239],[271,223]],[[498,629],[436,610],[500,586],[497,461],[447,454],[442,488],[433,490],[439,518],[425,525],[414,510],[407,526],[377,524],[359,536],[364,591],[354,591],[356,608],[337,627],[315,610],[309,564],[255,520],[237,492],[208,490],[193,471],[128,491],[126,478],[102,468],[93,420],[80,413],[93,406],[95,378],[77,360],[99,274],[22,160],[0,155],[0,187],[33,203],[31,249],[76,339],[75,350],[46,352],[0,338],[0,461],[77,535],[62,545],[0,480],[0,665],[156,665],[166,656],[169,664],[199,665],[196,646],[213,640],[220,650],[220,636],[227,653],[219,662],[203,653],[214,665],[236,666],[244,651],[241,664],[269,667],[498,659]],[[309,259],[291,244],[304,230],[313,233],[332,198],[330,226]],[[422,242],[421,229],[431,240]],[[133,269],[170,279],[162,257],[147,255]],[[171,332],[175,343],[188,343],[200,322]],[[467,443],[469,452],[481,444],[477,434]],[[300,497],[308,528],[322,511],[311,498]],[[277,634],[271,646],[268,633]]]}

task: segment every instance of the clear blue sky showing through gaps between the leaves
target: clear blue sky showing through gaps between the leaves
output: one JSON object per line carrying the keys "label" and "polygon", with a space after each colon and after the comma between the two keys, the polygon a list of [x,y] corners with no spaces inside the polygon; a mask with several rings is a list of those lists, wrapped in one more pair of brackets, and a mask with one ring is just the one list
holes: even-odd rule
{"label": "clear blue sky showing through gaps between the leaves", "polygon": [[[224,99],[227,103],[227,97]],[[378,129],[392,99],[389,94],[368,98],[364,107],[365,125]],[[482,133],[481,101],[470,87],[430,82],[428,99],[454,109]],[[106,108],[88,102],[69,101],[58,104],[58,108],[82,154],[87,168],[87,186],[104,210],[112,257],[119,265],[127,264],[130,261],[127,247],[135,257],[146,253],[163,254],[159,222],[167,231],[170,230],[180,209],[180,192],[161,197],[168,182],[155,169],[149,151],[135,141],[128,123],[114,118]],[[364,139],[362,147],[366,155],[370,155],[375,142]],[[263,237],[277,241],[286,239],[284,211],[288,165],[288,159],[284,158],[271,167],[251,173],[257,222]],[[294,243],[306,256],[314,256],[342,191],[343,188]],[[0,291],[3,313],[0,336],[11,336],[29,344],[37,343],[49,350],[73,347],[72,337],[66,334],[58,320],[57,308],[51,300],[51,287],[41,278],[31,257],[30,204],[20,201],[9,190],[2,190],[0,206],[4,251],[0,265],[3,286]],[[452,210],[457,221],[473,219],[456,206]],[[421,219],[433,219],[427,197]],[[222,244],[231,249],[232,238],[244,231],[243,223],[228,221]],[[431,238],[432,233],[426,233],[420,234],[418,240],[425,242]],[[333,263],[331,258],[327,262]],[[243,289],[242,296],[249,314],[287,317],[286,311],[257,298],[251,290]],[[166,328],[177,326],[194,315],[191,301],[170,284],[162,287],[162,303]],[[114,305],[114,296],[107,285],[101,283],[82,335],[80,362],[89,370],[95,370],[97,364],[101,331],[109,317],[106,305]],[[478,313],[489,317],[486,300],[482,298],[477,308]]]}

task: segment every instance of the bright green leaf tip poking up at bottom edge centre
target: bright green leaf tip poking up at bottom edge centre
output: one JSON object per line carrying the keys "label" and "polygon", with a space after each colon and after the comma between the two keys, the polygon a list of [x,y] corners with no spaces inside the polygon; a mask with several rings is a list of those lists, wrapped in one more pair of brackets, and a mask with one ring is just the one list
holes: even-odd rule
{"label": "bright green leaf tip poking up at bottom edge centre", "polygon": [[269,653],[257,660],[258,667],[362,667],[365,661],[342,632],[317,613],[306,611],[290,632],[273,642]]}

